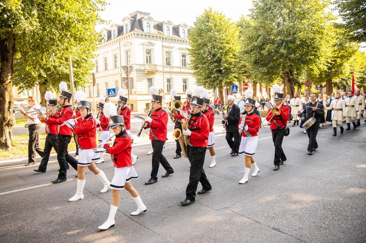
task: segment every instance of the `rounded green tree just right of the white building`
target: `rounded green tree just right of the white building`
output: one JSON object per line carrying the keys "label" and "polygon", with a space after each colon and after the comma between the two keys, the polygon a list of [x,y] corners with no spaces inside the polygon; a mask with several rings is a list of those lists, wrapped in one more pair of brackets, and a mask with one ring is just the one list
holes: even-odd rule
{"label": "rounded green tree just right of the white building", "polygon": [[225,15],[211,8],[198,16],[191,28],[188,40],[191,57],[190,68],[198,85],[207,89],[219,89],[224,100],[223,89],[240,81],[239,30]]}

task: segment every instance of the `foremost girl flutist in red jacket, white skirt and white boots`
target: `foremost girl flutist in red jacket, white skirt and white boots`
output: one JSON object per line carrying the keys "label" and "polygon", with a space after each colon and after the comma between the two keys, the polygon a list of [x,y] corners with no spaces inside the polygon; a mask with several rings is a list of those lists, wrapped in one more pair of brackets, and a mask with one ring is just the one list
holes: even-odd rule
{"label": "foremost girl flutist in red jacket, white skirt and white boots", "polygon": [[146,212],[146,206],[143,204],[139,194],[131,184],[131,180],[137,179],[138,175],[131,163],[131,137],[128,136],[126,129],[124,128],[123,116],[111,116],[111,126],[109,129],[112,129],[116,134],[116,139],[112,147],[110,147],[108,143],[104,144],[103,147],[107,150],[107,153],[113,155],[115,174],[110,186],[110,188],[112,188],[112,204],[109,216],[107,221],[98,227],[102,230],[115,225],[114,217],[119,206],[120,191],[123,190],[123,188],[126,188],[131,194],[138,207],[131,215],[139,215],[141,212]]}

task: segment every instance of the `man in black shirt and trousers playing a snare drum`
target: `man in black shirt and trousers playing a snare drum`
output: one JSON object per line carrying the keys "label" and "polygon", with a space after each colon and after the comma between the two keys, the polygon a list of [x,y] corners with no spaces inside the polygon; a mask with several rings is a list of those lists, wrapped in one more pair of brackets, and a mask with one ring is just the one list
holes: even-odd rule
{"label": "man in black shirt and trousers playing a snare drum", "polygon": [[311,117],[314,117],[316,120],[311,127],[307,128],[307,136],[309,137],[307,154],[311,155],[313,154],[313,151],[318,148],[317,134],[320,125],[320,117],[324,116],[324,107],[316,101],[317,94],[311,93],[309,97],[310,102],[305,104],[308,107],[304,107],[304,111],[302,113],[305,114],[305,116],[302,116],[302,120],[308,120]]}

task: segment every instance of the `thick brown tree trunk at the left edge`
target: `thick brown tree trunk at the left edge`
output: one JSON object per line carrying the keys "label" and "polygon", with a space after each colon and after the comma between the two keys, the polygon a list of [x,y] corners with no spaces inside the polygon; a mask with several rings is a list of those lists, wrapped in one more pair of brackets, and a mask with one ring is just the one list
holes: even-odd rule
{"label": "thick brown tree trunk at the left edge", "polygon": [[8,32],[6,38],[0,39],[0,149],[10,150],[9,134],[14,126],[13,108],[13,74],[14,74],[15,37]]}

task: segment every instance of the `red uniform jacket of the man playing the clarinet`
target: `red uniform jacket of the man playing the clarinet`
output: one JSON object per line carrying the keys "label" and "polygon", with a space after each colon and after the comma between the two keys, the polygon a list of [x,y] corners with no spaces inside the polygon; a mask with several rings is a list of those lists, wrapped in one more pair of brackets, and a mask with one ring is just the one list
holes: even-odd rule
{"label": "red uniform jacket of the man playing the clarinet", "polygon": [[[150,139],[151,140],[167,140],[167,126],[168,126],[168,113],[163,110],[163,108],[159,108],[156,111],[153,111],[151,118],[153,119],[151,123],[146,122],[146,128],[150,128]],[[151,132],[154,132],[157,138],[154,138]]]}

